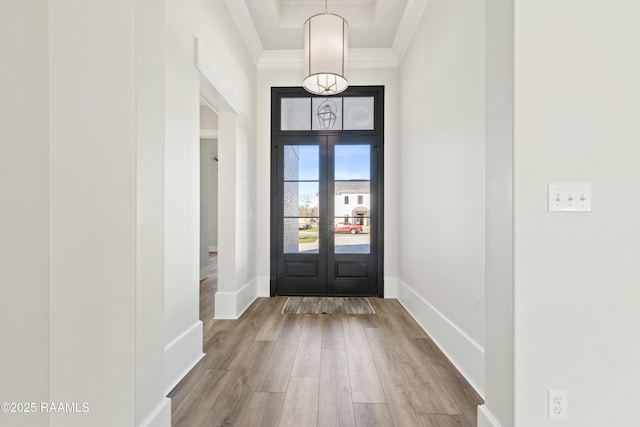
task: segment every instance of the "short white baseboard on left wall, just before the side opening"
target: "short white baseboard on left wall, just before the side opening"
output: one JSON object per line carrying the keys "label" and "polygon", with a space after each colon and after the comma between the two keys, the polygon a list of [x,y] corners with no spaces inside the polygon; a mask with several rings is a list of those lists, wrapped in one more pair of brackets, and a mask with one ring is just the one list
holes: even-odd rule
{"label": "short white baseboard on left wall, just before the side opening", "polygon": [[164,347],[165,396],[203,357],[202,322],[198,320]]}

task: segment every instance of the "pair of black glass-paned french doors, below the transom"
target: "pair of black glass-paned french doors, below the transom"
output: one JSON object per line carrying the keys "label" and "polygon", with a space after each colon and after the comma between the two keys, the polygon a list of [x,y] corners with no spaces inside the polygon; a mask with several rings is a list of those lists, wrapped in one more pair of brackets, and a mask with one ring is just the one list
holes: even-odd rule
{"label": "pair of black glass-paned french doors, below the transom", "polygon": [[374,132],[272,135],[272,295],[382,296]]}

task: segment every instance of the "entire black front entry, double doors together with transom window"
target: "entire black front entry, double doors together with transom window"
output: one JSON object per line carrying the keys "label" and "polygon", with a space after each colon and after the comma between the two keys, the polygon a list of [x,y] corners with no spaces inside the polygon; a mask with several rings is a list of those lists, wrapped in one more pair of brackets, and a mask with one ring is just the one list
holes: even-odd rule
{"label": "entire black front entry, double doors together with transom window", "polygon": [[384,88],[272,88],[271,295],[384,295]]}

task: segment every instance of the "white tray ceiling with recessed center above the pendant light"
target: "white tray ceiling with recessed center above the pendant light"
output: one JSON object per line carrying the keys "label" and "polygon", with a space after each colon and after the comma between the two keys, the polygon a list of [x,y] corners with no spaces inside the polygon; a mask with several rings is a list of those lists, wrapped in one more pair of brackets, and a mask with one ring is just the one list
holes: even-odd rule
{"label": "white tray ceiling with recessed center above the pendant light", "polygon": [[[349,55],[399,60],[428,0],[327,0],[329,13],[349,23]],[[225,0],[252,55],[261,62],[292,62],[303,49],[303,25],[325,11],[325,0]],[[352,55],[352,53],[355,54]],[[296,60],[297,62],[297,60]]]}

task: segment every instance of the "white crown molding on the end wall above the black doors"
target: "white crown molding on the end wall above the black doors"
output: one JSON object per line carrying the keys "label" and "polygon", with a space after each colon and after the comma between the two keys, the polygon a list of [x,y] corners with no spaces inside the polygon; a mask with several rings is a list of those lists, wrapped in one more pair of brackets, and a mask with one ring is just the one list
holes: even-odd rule
{"label": "white crown molding on the end wall above the black doors", "polygon": [[[349,68],[396,68],[400,64],[396,52],[384,49],[349,49]],[[302,69],[304,53],[302,50],[265,50],[258,60],[261,70]]]}

